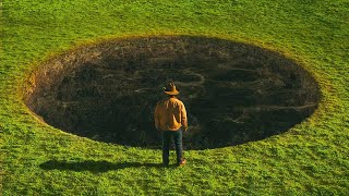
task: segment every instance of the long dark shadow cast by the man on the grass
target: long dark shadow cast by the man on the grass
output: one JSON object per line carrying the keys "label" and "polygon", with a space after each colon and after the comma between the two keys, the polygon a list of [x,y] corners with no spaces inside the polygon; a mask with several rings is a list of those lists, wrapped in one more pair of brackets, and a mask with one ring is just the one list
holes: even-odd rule
{"label": "long dark shadow cast by the man on the grass", "polygon": [[141,162],[108,162],[87,160],[82,162],[68,162],[49,160],[39,164],[44,170],[71,170],[71,171],[91,171],[91,172],[107,172],[110,170],[120,170],[125,168],[172,168],[176,164],[165,167],[161,163],[141,163]]}

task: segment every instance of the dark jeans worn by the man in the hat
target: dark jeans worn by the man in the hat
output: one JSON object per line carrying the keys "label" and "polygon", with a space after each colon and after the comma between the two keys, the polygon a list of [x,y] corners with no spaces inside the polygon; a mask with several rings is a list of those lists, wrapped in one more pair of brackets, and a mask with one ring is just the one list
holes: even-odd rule
{"label": "dark jeans worn by the man in the hat", "polygon": [[180,127],[178,131],[163,132],[163,163],[164,164],[169,163],[170,146],[171,146],[172,137],[176,145],[177,162],[182,161],[183,159],[182,135],[183,135],[182,127]]}

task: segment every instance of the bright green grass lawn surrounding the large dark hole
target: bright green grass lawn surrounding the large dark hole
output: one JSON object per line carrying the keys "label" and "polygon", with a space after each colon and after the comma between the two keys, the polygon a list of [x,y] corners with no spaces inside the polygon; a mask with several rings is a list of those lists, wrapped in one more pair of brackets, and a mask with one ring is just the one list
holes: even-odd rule
{"label": "bright green grass lawn surrounding the large dark hole", "polygon": [[[349,194],[348,0],[3,0],[0,5],[3,195]],[[27,73],[49,57],[105,38],[169,34],[285,53],[318,81],[318,110],[281,135],[185,151],[188,166],[165,169],[156,166],[159,150],[70,135],[37,121],[21,100]]]}

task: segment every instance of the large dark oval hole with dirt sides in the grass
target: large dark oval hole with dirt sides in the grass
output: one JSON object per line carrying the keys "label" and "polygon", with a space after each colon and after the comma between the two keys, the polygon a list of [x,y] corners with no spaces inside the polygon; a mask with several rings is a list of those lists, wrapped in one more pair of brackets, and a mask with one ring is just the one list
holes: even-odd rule
{"label": "large dark oval hole with dirt sides in the grass", "polygon": [[159,147],[154,108],[173,81],[189,115],[185,149],[233,146],[286,132],[317,107],[315,79],[255,46],[191,36],[84,46],[43,63],[25,102],[48,124],[95,140]]}

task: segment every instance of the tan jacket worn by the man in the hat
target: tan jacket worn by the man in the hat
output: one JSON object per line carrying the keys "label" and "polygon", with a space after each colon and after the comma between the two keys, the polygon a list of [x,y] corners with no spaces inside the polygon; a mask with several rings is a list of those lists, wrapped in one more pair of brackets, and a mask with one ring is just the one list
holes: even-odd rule
{"label": "tan jacket worn by the man in the hat", "polygon": [[160,131],[177,131],[183,126],[188,128],[186,111],[183,102],[176,97],[157,102],[155,112],[155,127]]}

